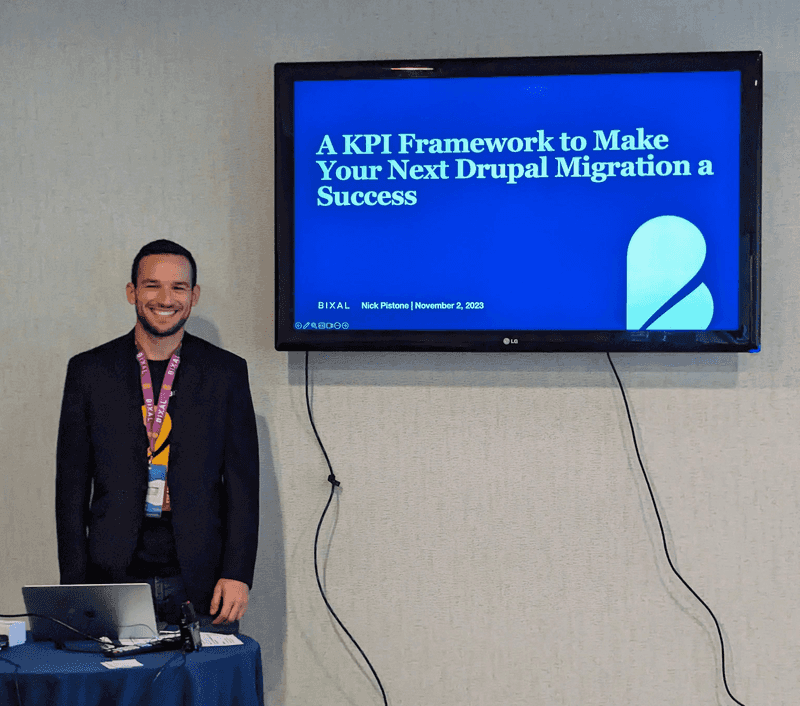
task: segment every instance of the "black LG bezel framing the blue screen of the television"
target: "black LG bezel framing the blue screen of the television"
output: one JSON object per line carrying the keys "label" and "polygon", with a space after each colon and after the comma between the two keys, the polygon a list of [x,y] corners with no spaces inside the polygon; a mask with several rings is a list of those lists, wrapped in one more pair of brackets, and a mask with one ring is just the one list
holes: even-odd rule
{"label": "black LG bezel framing the blue screen of the television", "polygon": [[[275,64],[275,349],[278,351],[757,352],[761,341],[760,51]],[[294,83],[408,78],[741,72],[739,321],[734,331],[294,328]]]}

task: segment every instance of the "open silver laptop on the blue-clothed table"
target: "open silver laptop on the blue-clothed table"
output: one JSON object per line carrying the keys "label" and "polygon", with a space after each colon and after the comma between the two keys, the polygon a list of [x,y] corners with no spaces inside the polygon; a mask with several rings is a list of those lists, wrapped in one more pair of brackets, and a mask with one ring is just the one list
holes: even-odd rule
{"label": "open silver laptop on the blue-clothed table", "polygon": [[[23,586],[28,613],[56,618],[92,637],[158,637],[153,595],[146,583]],[[34,640],[85,640],[52,620],[31,616]]]}

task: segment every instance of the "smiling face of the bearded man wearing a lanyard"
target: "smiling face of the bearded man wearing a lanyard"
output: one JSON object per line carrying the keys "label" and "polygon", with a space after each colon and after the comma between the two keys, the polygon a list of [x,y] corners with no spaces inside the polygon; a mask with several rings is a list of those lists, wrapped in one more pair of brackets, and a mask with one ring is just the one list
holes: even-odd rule
{"label": "smiling face of the bearded man wearing a lanyard", "polygon": [[137,282],[126,287],[136,318],[151,336],[165,338],[181,330],[200,297],[192,289],[192,266],[182,255],[146,255]]}

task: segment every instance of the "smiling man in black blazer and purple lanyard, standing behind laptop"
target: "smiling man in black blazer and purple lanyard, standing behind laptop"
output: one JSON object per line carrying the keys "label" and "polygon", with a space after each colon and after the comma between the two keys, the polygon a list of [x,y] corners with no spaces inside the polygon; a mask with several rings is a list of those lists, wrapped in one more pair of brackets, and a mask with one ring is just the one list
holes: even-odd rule
{"label": "smiling man in black blazer and purple lanyard, standing behind laptop", "polygon": [[133,261],[133,330],[69,361],[56,452],[61,583],[148,582],[159,621],[192,601],[234,632],[258,537],[258,440],[247,364],[186,333],[200,298],[169,240]]}

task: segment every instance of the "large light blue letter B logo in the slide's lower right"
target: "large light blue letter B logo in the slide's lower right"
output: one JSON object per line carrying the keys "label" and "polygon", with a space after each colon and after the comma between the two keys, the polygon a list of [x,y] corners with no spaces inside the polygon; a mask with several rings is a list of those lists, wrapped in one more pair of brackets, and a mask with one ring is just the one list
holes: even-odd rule
{"label": "large light blue letter B logo in the slide's lower right", "polygon": [[700,283],[686,296],[667,304],[700,271],[706,241],[697,226],[678,216],[658,216],[643,223],[628,243],[627,328],[702,330],[714,314],[714,299]]}

